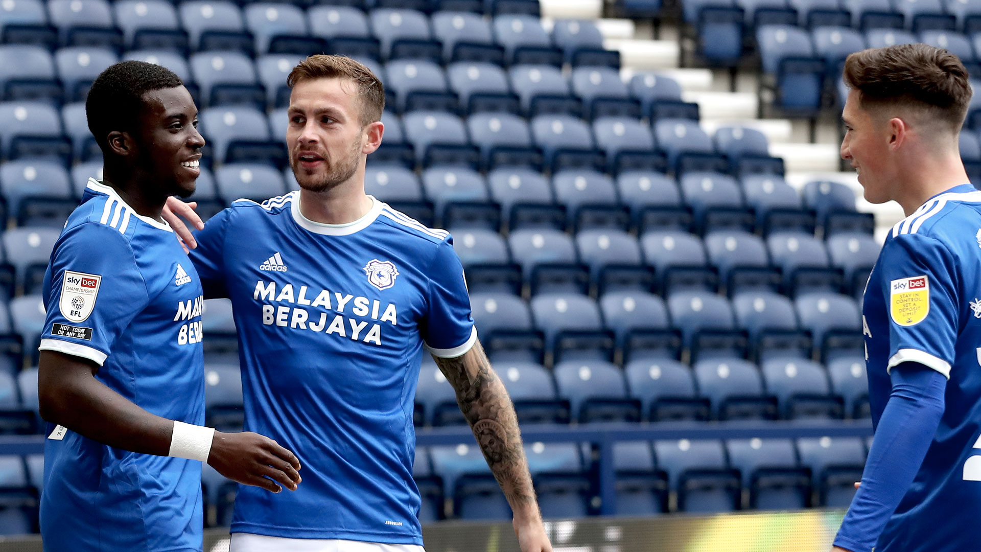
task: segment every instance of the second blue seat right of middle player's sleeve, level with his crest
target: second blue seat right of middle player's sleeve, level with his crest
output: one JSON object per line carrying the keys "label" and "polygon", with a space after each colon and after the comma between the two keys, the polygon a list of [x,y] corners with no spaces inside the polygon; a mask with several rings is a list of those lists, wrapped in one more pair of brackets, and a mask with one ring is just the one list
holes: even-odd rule
{"label": "second blue seat right of middle player's sleeve, level with his crest", "polygon": [[542,292],[586,294],[590,275],[580,266],[572,238],[549,228],[511,232],[507,238],[511,258],[521,265],[532,295]]}

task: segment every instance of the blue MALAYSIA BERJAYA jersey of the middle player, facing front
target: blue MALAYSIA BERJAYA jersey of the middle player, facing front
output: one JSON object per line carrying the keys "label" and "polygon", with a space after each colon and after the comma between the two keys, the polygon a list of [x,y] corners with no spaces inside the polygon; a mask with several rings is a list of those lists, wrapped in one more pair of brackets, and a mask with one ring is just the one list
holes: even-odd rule
{"label": "blue MALAYSIA BERJAYA jersey of the middle player, facing front", "polygon": [[296,453],[294,492],[238,486],[232,532],[422,544],[412,479],[423,344],[477,340],[449,235],[372,198],[345,225],[298,192],[238,200],[196,234],[205,296],[232,300],[245,427]]}

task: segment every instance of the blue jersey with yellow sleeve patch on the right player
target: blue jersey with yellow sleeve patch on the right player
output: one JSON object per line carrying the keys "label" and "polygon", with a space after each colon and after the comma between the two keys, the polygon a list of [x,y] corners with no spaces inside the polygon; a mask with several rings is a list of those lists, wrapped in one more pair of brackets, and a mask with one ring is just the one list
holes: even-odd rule
{"label": "blue jersey with yellow sleeve patch on the right player", "polygon": [[893,228],[862,323],[874,425],[893,366],[919,362],[949,378],[940,426],[875,551],[974,550],[966,521],[981,515],[981,192],[955,187]]}

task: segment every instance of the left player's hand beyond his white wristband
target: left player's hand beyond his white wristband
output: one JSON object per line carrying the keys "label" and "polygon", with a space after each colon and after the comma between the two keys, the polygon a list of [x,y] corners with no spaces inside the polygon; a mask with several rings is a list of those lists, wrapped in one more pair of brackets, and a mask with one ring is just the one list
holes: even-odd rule
{"label": "left player's hand beyond his white wristband", "polygon": [[269,437],[251,431],[215,431],[208,464],[232,481],[274,493],[283,490],[277,483],[295,491],[302,481],[297,472],[300,461],[293,453]]}

